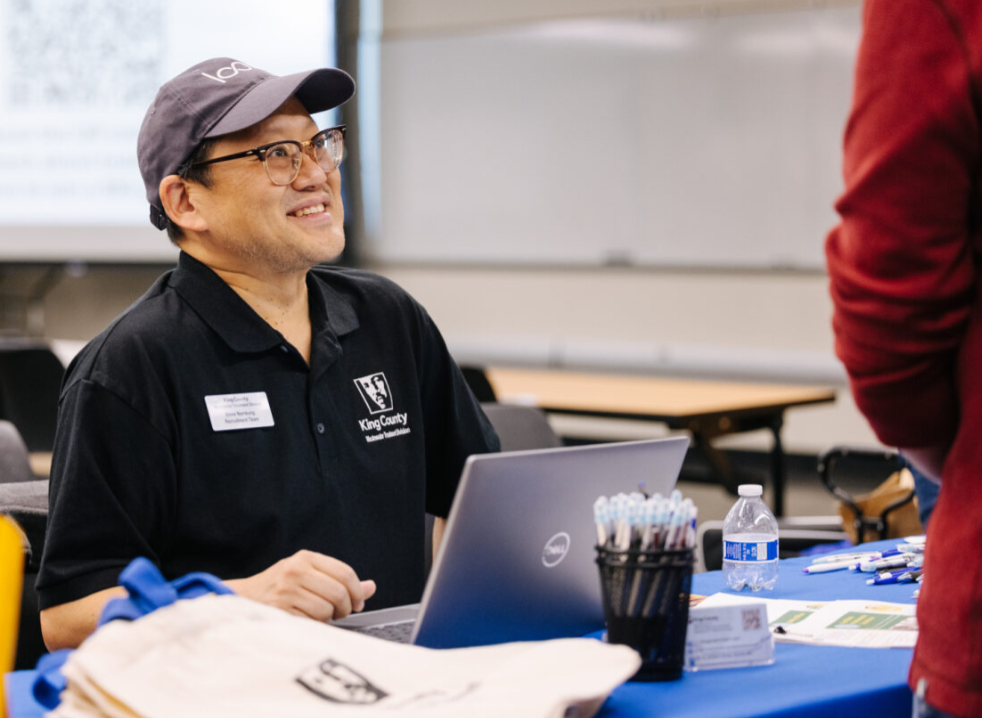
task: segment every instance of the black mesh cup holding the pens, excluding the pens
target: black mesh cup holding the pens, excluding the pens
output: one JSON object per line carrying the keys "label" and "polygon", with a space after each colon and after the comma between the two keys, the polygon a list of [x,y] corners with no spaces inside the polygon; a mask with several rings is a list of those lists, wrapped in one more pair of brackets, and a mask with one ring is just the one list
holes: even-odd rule
{"label": "black mesh cup holding the pens, excluding the pens", "polygon": [[613,550],[597,547],[607,642],[641,655],[633,681],[682,677],[689,625],[692,549]]}

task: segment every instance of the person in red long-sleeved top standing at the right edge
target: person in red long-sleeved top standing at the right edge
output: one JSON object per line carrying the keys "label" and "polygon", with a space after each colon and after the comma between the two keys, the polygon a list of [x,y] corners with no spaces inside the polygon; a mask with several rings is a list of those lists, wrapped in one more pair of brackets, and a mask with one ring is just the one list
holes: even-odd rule
{"label": "person in red long-sleeved top standing at the right edge", "polygon": [[982,3],[867,0],[828,237],[836,353],[880,441],[942,490],[915,715],[982,716]]}

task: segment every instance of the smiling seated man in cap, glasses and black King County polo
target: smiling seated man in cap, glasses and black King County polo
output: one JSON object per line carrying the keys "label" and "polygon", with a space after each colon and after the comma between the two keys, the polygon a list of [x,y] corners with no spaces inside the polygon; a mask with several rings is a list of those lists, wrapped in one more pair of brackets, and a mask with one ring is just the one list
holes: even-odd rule
{"label": "smiling seated man in cap, glasses and black King County polo", "polygon": [[340,70],[217,58],[148,110],[151,221],[181,255],[69,367],[37,581],[50,648],[93,630],[136,556],[317,620],[419,600],[424,515],[498,441],[422,307],[316,267],[344,247],[344,128],[310,114],[353,92]]}

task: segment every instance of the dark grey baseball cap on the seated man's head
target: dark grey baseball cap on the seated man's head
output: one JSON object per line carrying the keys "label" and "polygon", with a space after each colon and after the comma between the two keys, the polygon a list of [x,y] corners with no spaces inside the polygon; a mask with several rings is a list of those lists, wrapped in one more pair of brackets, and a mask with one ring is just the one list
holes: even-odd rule
{"label": "dark grey baseball cap on the seated man's head", "polygon": [[355,81],[335,68],[277,77],[230,57],[216,57],[185,70],[160,88],[136,143],[150,223],[157,229],[167,226],[160,182],[176,174],[202,140],[261,122],[293,96],[314,114],[343,104],[354,93]]}

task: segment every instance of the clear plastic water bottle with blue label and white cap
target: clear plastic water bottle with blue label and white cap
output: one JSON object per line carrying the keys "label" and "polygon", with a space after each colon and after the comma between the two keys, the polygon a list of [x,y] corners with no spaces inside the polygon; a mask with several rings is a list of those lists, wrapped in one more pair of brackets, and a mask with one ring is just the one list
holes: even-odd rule
{"label": "clear plastic water bottle with blue label and white cap", "polygon": [[741,484],[740,498],[723,521],[723,577],[735,591],[773,590],[777,583],[777,519],[760,484]]}

